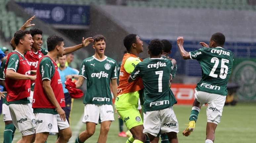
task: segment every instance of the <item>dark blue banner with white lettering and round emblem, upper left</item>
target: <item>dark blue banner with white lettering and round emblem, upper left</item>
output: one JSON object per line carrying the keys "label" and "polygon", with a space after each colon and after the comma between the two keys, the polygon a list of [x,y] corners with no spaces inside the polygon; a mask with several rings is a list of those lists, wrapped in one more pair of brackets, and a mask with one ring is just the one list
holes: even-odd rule
{"label": "dark blue banner with white lettering and round emblem, upper left", "polygon": [[24,10],[50,24],[83,25],[90,24],[90,6],[17,3]]}

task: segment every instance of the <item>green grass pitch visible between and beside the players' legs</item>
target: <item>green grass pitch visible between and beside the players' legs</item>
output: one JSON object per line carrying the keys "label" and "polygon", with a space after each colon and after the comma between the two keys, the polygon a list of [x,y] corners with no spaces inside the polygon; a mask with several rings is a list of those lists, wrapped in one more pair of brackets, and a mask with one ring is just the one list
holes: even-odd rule
{"label": "green grass pitch visible between and beside the players' legs", "polygon": [[[74,100],[71,113],[71,130],[72,138],[70,143],[74,143],[77,135],[85,130],[85,124],[81,123],[81,117],[84,111],[82,100]],[[174,105],[174,111],[179,122],[178,139],[180,143],[204,143],[206,131],[206,107],[202,107],[196,122],[195,131],[189,137],[182,135],[182,131],[186,128],[188,118],[190,116],[191,106]],[[215,133],[215,143],[241,143],[256,142],[256,104],[255,103],[239,103],[237,106],[225,106],[222,113],[221,123],[218,125]],[[4,131],[3,117],[0,117],[0,142],[3,142]],[[124,125],[124,130],[126,127]],[[100,125],[96,126],[95,134],[89,138],[86,143],[96,143],[98,140]],[[115,121],[111,124],[108,133],[107,143],[125,143],[126,137],[118,137],[119,132],[117,114]],[[21,133],[16,131],[13,142],[17,142],[21,138]],[[54,143],[57,136],[50,135],[47,143]]]}

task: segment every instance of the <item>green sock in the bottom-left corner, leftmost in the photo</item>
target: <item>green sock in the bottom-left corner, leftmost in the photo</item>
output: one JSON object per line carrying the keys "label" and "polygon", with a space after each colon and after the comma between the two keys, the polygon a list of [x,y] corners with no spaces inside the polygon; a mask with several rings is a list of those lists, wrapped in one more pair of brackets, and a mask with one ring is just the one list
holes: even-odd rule
{"label": "green sock in the bottom-left corner, leftmost in the photo", "polygon": [[5,125],[4,143],[12,142],[15,130],[16,128],[14,127],[13,123]]}

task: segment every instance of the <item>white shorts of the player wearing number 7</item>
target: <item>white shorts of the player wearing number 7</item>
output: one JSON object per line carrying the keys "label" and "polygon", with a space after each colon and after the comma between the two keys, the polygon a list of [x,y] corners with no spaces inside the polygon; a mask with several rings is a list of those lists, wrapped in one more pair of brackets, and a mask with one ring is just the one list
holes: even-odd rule
{"label": "white shorts of the player wearing number 7", "polygon": [[179,132],[179,124],[173,107],[144,112],[143,133],[157,136],[158,133]]}

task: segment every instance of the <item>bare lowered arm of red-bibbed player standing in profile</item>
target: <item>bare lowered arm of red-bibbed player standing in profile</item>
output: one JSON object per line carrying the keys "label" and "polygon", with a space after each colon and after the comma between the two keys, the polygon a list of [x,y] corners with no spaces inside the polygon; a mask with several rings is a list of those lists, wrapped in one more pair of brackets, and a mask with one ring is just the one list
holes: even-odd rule
{"label": "bare lowered arm of red-bibbed player standing in profile", "polygon": [[49,79],[43,80],[43,89],[44,89],[44,92],[46,93],[46,96],[50,100],[50,102],[56,107],[56,111],[61,116],[61,119],[65,121],[66,120],[65,111],[61,108],[60,104],[55,98],[53,89],[51,87],[51,81]]}

